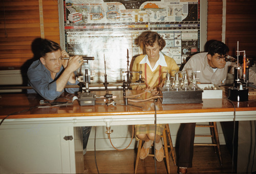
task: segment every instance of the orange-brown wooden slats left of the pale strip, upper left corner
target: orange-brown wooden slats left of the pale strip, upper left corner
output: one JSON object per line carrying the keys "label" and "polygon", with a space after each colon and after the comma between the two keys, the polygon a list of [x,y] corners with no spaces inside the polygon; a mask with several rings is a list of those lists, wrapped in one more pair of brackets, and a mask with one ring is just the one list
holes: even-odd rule
{"label": "orange-brown wooden slats left of the pale strip, upper left corner", "polygon": [[5,0],[1,1],[1,7],[4,8],[0,16],[0,66],[18,69],[32,57],[31,40],[40,33],[35,30],[39,27],[38,1]]}

